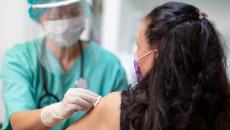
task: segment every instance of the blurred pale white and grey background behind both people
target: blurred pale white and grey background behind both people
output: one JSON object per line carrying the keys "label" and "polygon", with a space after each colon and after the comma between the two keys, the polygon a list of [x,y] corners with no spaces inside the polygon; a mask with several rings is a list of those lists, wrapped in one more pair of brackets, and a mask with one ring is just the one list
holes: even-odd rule
{"label": "blurred pale white and grey background behind both people", "polygon": [[[99,25],[101,46],[113,52],[126,69],[128,80],[135,79],[133,54],[138,24],[155,6],[169,0],[88,0]],[[221,32],[227,57],[230,58],[230,1],[229,0],[174,0],[191,3],[208,11],[209,19]],[[4,53],[15,44],[33,39],[28,28],[38,28],[28,16],[26,0],[6,0],[0,7],[0,67]],[[39,28],[38,28],[39,30]],[[228,70],[228,68],[227,68]],[[230,71],[229,71],[230,74]],[[4,120],[2,85],[0,83],[0,123]]]}

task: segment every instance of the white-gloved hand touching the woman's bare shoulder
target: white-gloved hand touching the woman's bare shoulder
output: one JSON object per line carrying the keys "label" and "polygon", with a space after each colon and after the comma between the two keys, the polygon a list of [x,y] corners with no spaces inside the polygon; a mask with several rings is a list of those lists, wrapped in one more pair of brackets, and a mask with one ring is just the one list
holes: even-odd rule
{"label": "white-gloved hand touching the woman's bare shoulder", "polygon": [[89,110],[100,97],[87,89],[70,88],[62,101],[42,108],[41,121],[44,125],[53,127],[76,111]]}

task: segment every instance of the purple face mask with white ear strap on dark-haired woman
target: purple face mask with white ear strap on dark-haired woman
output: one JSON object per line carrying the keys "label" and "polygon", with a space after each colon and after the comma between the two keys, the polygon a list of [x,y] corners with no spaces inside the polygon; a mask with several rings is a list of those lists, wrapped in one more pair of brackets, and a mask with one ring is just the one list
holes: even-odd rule
{"label": "purple face mask with white ear strap on dark-haired woman", "polygon": [[144,54],[143,56],[139,57],[139,58],[135,58],[134,60],[134,69],[135,69],[135,73],[137,76],[137,81],[140,82],[143,79],[143,75],[141,74],[141,69],[140,69],[140,65],[139,65],[139,61],[142,60],[144,57],[150,55],[153,51],[150,51],[146,54]]}

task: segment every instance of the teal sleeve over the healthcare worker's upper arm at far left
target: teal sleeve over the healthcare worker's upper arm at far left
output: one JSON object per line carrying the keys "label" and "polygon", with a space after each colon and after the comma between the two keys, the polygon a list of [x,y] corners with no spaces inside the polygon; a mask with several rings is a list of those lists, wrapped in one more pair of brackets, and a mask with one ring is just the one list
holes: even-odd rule
{"label": "teal sleeve over the healthcare worker's upper arm at far left", "polygon": [[30,86],[31,71],[20,50],[6,53],[2,68],[3,99],[7,119],[13,113],[34,108],[35,102]]}

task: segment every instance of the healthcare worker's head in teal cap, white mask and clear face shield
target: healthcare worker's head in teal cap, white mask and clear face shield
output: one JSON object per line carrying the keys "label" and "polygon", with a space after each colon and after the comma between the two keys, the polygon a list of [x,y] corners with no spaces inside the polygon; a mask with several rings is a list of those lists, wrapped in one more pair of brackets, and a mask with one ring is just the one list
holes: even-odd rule
{"label": "healthcare worker's head in teal cap, white mask and clear face shield", "polygon": [[[85,0],[31,0],[30,17],[42,28],[44,36],[36,45],[39,63],[46,71],[57,71],[59,58],[82,53],[82,43],[99,42],[99,33],[90,5]],[[55,59],[55,60],[54,60]],[[60,66],[60,65],[59,65]]]}

